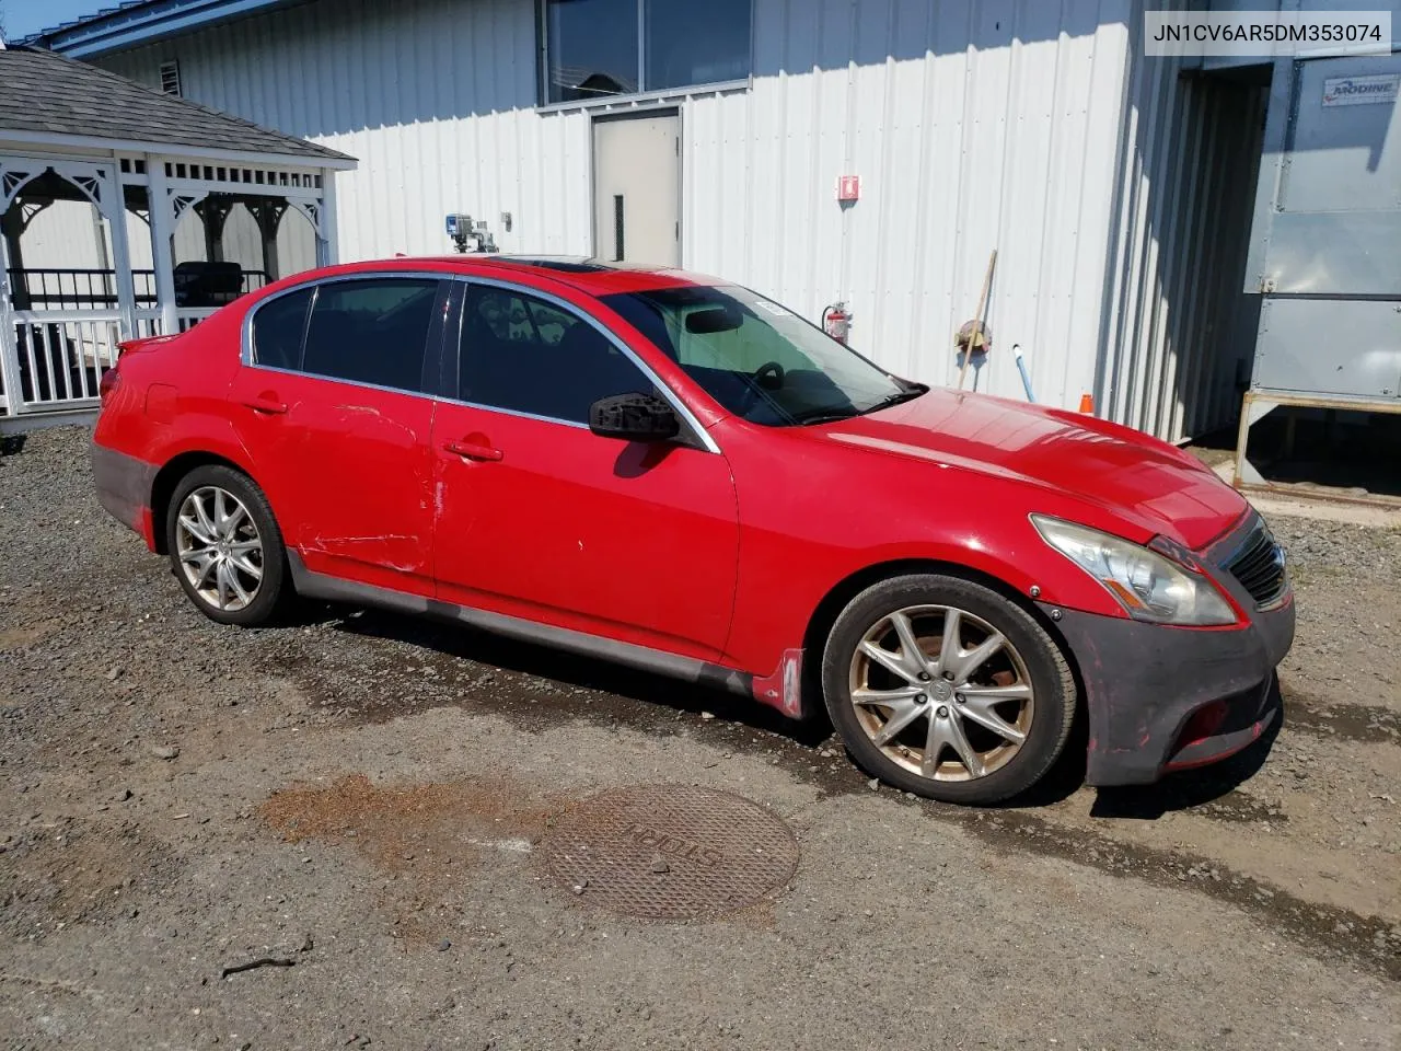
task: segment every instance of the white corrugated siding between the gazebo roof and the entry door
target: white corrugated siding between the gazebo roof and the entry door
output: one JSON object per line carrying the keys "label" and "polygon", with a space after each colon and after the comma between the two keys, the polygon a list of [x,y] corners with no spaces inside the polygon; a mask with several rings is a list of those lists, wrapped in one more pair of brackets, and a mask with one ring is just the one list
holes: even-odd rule
{"label": "white corrugated siding between the gazebo roof and the entry door", "polygon": [[170,57],[188,98],[360,160],[336,179],[342,259],[448,252],[450,212],[504,251],[590,248],[588,118],[532,108],[528,0],[321,0],[99,64],[156,85]]}

